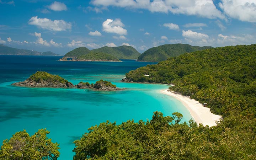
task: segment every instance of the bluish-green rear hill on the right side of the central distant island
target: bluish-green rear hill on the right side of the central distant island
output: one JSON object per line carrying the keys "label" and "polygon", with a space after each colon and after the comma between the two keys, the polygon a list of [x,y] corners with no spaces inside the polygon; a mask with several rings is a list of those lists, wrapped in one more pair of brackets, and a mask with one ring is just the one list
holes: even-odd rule
{"label": "bluish-green rear hill on the right side of the central distant island", "polygon": [[140,53],[131,46],[119,46],[119,47],[101,47],[98,49],[92,49],[93,52],[103,52],[118,59],[137,59]]}

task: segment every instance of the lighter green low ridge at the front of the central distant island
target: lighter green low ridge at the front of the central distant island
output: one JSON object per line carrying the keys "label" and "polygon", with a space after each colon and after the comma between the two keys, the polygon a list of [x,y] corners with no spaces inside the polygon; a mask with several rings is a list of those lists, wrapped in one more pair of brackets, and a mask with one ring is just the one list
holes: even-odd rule
{"label": "lighter green low ridge at the front of the central distant island", "polygon": [[114,62],[120,62],[119,59],[116,57],[102,52],[89,52],[84,55],[80,55],[77,57],[76,60],[91,60],[91,61],[114,61]]}

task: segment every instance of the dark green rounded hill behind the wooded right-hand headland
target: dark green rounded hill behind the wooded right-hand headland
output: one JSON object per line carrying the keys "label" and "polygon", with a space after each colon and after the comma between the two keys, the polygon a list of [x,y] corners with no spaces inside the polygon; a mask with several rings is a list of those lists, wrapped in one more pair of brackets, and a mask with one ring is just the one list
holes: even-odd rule
{"label": "dark green rounded hill behind the wooded right-hand headland", "polygon": [[190,53],[197,50],[204,50],[209,48],[213,47],[199,47],[191,46],[189,44],[165,44],[146,50],[139,56],[138,61],[160,62],[166,60],[169,57],[175,57],[183,53]]}

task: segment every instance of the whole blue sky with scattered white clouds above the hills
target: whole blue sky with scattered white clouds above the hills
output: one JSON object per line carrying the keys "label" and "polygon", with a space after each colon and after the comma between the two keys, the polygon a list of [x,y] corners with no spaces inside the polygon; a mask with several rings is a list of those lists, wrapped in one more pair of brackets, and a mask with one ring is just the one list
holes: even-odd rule
{"label": "whole blue sky with scattered white clouds above the hills", "polygon": [[39,52],[256,43],[256,0],[0,0],[0,14],[0,44]]}

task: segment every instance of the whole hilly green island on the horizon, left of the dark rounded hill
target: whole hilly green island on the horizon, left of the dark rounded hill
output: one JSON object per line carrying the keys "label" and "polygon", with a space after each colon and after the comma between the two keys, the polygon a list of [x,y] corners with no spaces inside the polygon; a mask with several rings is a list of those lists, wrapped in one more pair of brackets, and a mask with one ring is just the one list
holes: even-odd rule
{"label": "whole hilly green island on the horizon, left of the dark rounded hill", "polygon": [[137,59],[140,53],[131,46],[102,47],[89,50],[79,47],[66,53],[60,61],[108,61],[120,62],[119,59]]}

